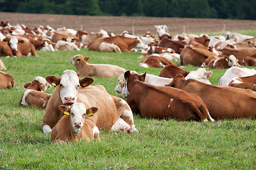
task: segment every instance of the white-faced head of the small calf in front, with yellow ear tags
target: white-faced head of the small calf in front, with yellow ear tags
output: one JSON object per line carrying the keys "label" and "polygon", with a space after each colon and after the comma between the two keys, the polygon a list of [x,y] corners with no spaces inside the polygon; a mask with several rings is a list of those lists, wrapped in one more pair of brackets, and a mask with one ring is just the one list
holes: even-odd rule
{"label": "white-faced head of the small calf in front, with yellow ear tags", "polygon": [[70,115],[70,124],[75,133],[79,133],[85,124],[85,119],[97,112],[97,108],[87,108],[83,103],[74,103],[71,108],[65,105],[58,107],[65,115]]}

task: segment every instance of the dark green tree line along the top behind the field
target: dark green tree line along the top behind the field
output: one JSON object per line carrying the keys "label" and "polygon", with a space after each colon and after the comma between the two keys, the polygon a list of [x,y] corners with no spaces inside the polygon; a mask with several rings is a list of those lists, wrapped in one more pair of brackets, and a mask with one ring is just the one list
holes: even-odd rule
{"label": "dark green tree line along the top behind the field", "polygon": [[87,16],[256,19],[251,0],[0,0],[0,11]]}

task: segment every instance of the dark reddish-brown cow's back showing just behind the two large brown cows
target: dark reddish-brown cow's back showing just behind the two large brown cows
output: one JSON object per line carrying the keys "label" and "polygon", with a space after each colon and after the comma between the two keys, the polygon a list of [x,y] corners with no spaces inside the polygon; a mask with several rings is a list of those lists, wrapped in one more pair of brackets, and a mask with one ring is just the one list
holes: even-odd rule
{"label": "dark reddish-brown cow's back showing just behind the two large brown cows", "polygon": [[175,65],[166,65],[166,67],[161,70],[159,77],[174,78],[178,73],[182,74],[183,77],[186,77],[189,74],[189,72],[186,72],[181,67],[177,67]]}

